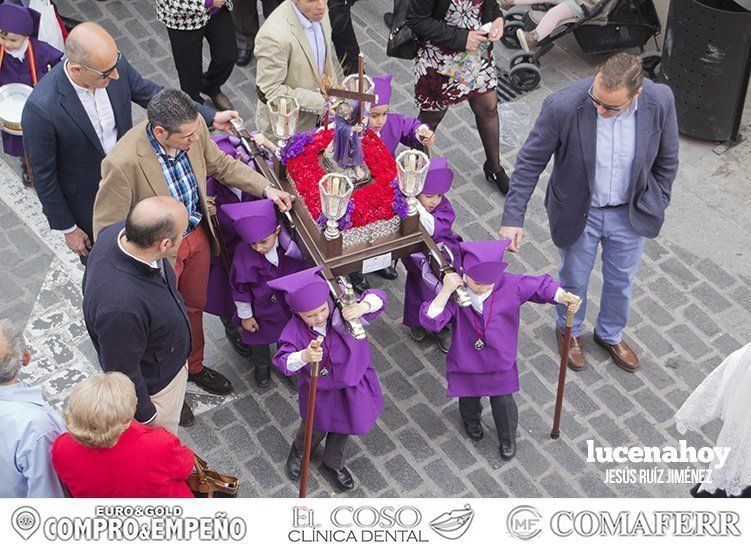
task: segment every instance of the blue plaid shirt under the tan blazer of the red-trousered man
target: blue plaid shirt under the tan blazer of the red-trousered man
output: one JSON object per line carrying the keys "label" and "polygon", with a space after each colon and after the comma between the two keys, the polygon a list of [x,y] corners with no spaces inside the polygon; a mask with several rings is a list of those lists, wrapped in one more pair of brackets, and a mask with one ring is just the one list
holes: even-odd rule
{"label": "blue plaid shirt under the tan blazer of the red-trousered man", "polygon": [[203,218],[203,213],[198,206],[198,180],[193,173],[193,167],[190,165],[188,152],[179,151],[174,157],[165,153],[154,137],[151,123],[146,125],[146,135],[149,137],[151,147],[159,159],[170,195],[182,202],[188,210],[188,229],[183,235],[186,236],[198,226]]}

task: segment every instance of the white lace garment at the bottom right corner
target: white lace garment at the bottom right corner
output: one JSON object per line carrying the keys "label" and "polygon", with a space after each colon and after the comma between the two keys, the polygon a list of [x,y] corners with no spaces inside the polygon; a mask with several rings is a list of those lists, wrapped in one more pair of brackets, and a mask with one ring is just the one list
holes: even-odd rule
{"label": "white lace garment at the bottom right corner", "polygon": [[[694,497],[751,497],[751,343],[731,353],[686,399],[675,414],[678,432],[700,431],[722,420],[717,447],[729,448],[711,478],[691,489]],[[711,480],[711,481],[710,481]]]}

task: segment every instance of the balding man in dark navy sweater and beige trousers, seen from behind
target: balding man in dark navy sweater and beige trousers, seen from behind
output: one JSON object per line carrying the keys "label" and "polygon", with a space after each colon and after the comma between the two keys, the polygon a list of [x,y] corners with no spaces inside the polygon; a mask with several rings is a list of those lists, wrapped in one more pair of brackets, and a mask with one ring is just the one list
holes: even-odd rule
{"label": "balding man in dark navy sweater and beige trousers, seen from behind", "polygon": [[136,204],[125,221],[99,233],[83,297],[102,370],[133,380],[136,421],[173,433],[185,400],[190,325],[169,259],[187,226],[188,212],[174,198]]}

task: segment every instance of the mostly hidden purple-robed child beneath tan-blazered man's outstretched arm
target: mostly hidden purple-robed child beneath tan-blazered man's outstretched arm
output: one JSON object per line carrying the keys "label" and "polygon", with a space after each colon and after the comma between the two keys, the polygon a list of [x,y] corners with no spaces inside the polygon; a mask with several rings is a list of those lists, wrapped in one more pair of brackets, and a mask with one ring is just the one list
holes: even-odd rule
{"label": "mostly hidden purple-robed child beneath tan-blazered man's outstretched arm", "polygon": [[[255,167],[253,161],[251,161],[250,157],[245,152],[245,149],[240,144],[239,138],[225,134],[221,136],[212,136],[211,139],[216,142],[219,149],[230,157],[243,161],[251,168]],[[237,235],[237,232],[235,232],[232,220],[222,211],[222,206],[225,204],[250,202],[256,200],[256,197],[249,195],[248,193],[243,193],[240,189],[218,183],[212,177],[206,178],[206,195],[213,197],[214,199],[216,218],[224,242],[223,250],[226,248],[226,257],[231,263],[232,257],[235,254],[235,246],[237,246],[237,243],[240,241],[240,237]],[[232,288],[229,284],[229,270],[227,270],[227,267],[224,264],[224,256],[222,255],[211,256],[209,284],[206,293],[206,306],[204,307],[204,311],[218,316],[219,319],[221,319],[227,340],[229,340],[229,343],[238,354],[243,357],[251,356],[250,346],[242,341],[240,335],[240,320],[234,318],[235,303],[232,299]]]}

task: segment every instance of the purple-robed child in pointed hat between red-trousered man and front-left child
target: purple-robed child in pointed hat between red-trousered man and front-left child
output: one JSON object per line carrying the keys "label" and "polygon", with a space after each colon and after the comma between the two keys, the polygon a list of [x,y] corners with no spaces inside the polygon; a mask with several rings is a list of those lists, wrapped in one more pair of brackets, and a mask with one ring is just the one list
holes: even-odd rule
{"label": "purple-robed child in pointed hat between red-trousered man and front-left child", "polygon": [[242,320],[242,341],[254,346],[255,380],[259,387],[267,387],[271,377],[269,345],[279,339],[292,317],[287,304],[277,297],[268,282],[308,265],[279,224],[273,201],[225,204],[222,211],[232,220],[241,238],[229,277],[237,315]]}

